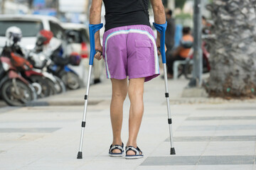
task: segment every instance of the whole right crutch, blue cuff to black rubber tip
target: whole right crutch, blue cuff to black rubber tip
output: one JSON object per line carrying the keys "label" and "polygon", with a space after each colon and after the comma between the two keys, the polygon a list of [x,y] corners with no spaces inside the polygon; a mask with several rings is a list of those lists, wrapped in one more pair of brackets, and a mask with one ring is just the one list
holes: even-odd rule
{"label": "whole right crutch, blue cuff to black rubber tip", "polygon": [[156,24],[153,23],[154,27],[157,31],[161,34],[161,44],[160,44],[160,51],[162,62],[164,64],[164,83],[165,83],[165,96],[166,96],[166,103],[167,103],[167,112],[168,112],[168,124],[169,124],[169,132],[170,132],[170,142],[171,142],[171,154],[175,154],[174,149],[174,141],[173,141],[173,134],[172,134],[172,127],[171,127],[171,109],[170,109],[170,101],[169,101],[169,91],[168,91],[168,82],[167,82],[167,70],[166,70],[166,53],[165,53],[165,32],[167,22],[164,24]]}

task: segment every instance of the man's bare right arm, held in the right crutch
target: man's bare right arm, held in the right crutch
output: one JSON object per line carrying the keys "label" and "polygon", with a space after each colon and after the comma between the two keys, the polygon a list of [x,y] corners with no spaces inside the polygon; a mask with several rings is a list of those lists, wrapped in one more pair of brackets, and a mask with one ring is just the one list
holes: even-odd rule
{"label": "man's bare right arm, held in the right crutch", "polygon": [[[161,0],[150,0],[154,11],[154,22],[157,24],[166,23],[166,16],[164,13],[164,5]],[[157,32],[156,47],[160,47],[160,33]]]}

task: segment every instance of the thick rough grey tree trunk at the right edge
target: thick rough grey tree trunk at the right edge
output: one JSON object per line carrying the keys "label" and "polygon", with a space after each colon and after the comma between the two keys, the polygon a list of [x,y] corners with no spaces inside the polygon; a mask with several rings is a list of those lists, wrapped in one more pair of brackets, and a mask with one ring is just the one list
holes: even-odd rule
{"label": "thick rough grey tree trunk at the right edge", "polygon": [[256,0],[214,0],[210,96],[255,97]]}

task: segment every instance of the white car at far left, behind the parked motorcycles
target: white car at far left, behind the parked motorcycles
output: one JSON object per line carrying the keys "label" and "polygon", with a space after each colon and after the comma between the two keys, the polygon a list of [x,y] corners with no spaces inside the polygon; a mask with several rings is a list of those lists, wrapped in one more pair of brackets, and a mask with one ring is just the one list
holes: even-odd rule
{"label": "white car at far left, behind the parked motorcycles", "polygon": [[0,47],[6,43],[6,29],[16,26],[22,31],[20,45],[28,50],[36,45],[36,35],[40,30],[50,30],[53,32],[53,38],[50,40],[50,46],[54,49],[61,43],[64,36],[64,30],[60,26],[60,21],[53,16],[38,15],[0,15]]}

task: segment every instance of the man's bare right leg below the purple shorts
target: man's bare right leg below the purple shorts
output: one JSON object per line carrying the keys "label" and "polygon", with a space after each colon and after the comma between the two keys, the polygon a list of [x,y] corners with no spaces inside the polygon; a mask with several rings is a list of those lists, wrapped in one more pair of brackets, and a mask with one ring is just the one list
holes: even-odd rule
{"label": "man's bare right leg below the purple shorts", "polygon": [[[137,147],[137,136],[140,125],[142,123],[142,115],[144,112],[143,93],[145,78],[130,79],[128,86],[128,95],[131,102],[129,110],[129,139],[128,146]],[[127,154],[134,154],[133,151]]]}

